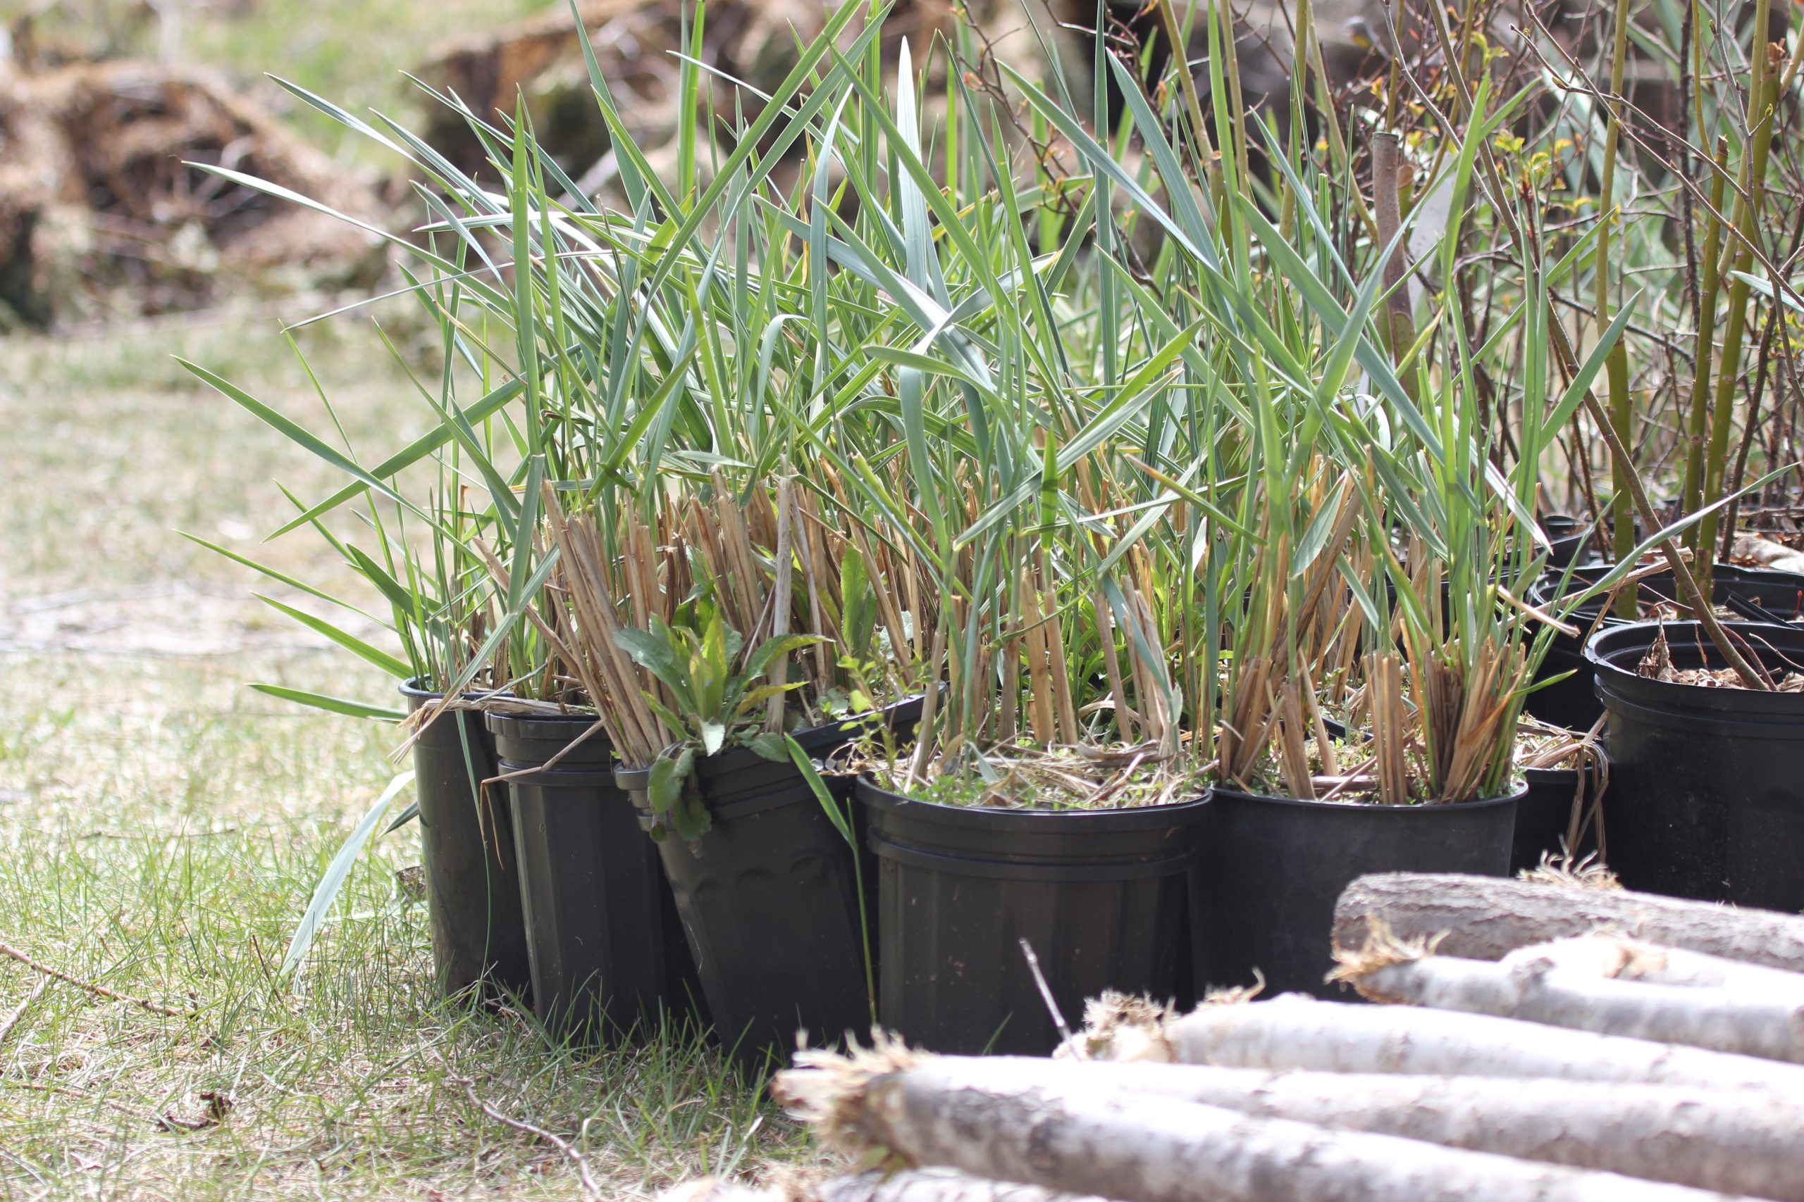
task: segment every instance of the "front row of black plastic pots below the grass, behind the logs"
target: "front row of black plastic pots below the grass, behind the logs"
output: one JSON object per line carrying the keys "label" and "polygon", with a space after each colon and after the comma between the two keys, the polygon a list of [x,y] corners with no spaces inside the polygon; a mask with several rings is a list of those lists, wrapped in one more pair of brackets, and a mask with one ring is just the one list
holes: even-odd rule
{"label": "front row of black plastic pots below the grass, behind the logs", "polygon": [[[631,797],[642,773],[615,771],[599,737],[565,751],[590,721],[487,719],[512,824],[476,838],[485,860],[518,852],[534,1009],[559,1038],[624,1038],[658,1011],[711,1018],[749,1061],[785,1054],[797,1033],[833,1042],[868,1027],[868,915],[877,1018],[940,1051],[1050,1051],[1041,980],[1070,1020],[1104,989],[1189,1002],[1254,970],[1270,991],[1322,993],[1348,881],[1532,865],[1559,845],[1577,784],[1541,773],[1521,797],[1436,807],[1216,789],[1167,807],[1045,813],[938,806],[861,780],[853,861],[801,775],[745,751],[704,760],[713,827],[653,843]],[[823,728],[803,744],[821,755],[839,737]],[[460,813],[480,813],[469,797]],[[444,872],[433,883],[438,903],[494,897]],[[440,910],[435,952],[455,946],[437,937]]]}

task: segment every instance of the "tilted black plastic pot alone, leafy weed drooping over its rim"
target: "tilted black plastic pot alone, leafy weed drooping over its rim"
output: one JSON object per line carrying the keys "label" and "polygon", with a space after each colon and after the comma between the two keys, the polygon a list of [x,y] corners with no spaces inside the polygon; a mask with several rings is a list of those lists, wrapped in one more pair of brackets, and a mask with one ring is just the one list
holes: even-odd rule
{"label": "tilted black plastic pot alone, leafy weed drooping over its rim", "polygon": [[[846,742],[837,723],[794,737],[815,759]],[[734,748],[696,759],[695,771],[709,829],[687,842],[639,838],[657,849],[675,890],[714,1033],[750,1065],[787,1061],[797,1033],[815,1045],[862,1038],[871,998],[851,843],[794,764]],[[648,777],[615,771],[642,831],[651,829]],[[850,791],[842,779],[826,782],[837,798]]]}

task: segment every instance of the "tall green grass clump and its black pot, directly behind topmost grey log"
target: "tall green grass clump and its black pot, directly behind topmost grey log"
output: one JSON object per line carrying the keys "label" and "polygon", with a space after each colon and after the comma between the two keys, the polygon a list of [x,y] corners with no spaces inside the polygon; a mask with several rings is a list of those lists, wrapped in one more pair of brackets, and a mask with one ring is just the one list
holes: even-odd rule
{"label": "tall green grass clump and its black pot, directly behind topmost grey log", "polygon": [[[1436,267],[1450,288],[1467,205],[1483,204],[1470,187],[1476,151],[1510,108],[1486,112],[1485,96],[1479,87],[1463,135],[1445,132]],[[1245,123],[1218,117],[1223,139],[1243,146]],[[1221,669],[1220,703],[1196,732],[1216,751],[1198,926],[1205,982],[1259,973],[1272,989],[1321,993],[1333,899],[1353,876],[1508,869],[1517,714],[1548,638],[1514,595],[1542,562],[1528,519],[1539,454],[1620,324],[1560,393],[1546,359],[1530,355],[1521,451],[1503,472],[1459,314],[1443,314],[1440,341],[1413,328],[1394,146],[1393,166],[1375,155],[1378,236],[1366,240],[1362,276],[1315,200],[1344,182],[1346,146],[1317,159],[1266,135],[1266,148],[1290,164],[1270,205],[1247,195],[1245,159],[1223,153],[1200,195],[1165,180],[1174,200],[1162,218],[1174,252],[1194,258],[1201,305],[1220,314],[1218,378],[1241,402],[1247,481],[1239,528],[1216,523],[1221,551],[1209,560],[1207,647]],[[1153,159],[1178,168],[1174,155]],[[1524,261],[1519,317],[1535,346],[1544,281],[1539,260]]]}

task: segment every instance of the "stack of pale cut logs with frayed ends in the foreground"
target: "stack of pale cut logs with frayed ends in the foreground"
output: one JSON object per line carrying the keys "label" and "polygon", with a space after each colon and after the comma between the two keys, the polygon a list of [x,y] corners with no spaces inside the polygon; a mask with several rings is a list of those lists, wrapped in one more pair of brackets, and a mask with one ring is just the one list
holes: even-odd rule
{"label": "stack of pale cut logs with frayed ends in the foreground", "polygon": [[803,1052],[774,1092],[868,1171],[666,1198],[1804,1202],[1804,919],[1400,874],[1335,937],[1387,1006],[1109,997],[1050,1060]]}

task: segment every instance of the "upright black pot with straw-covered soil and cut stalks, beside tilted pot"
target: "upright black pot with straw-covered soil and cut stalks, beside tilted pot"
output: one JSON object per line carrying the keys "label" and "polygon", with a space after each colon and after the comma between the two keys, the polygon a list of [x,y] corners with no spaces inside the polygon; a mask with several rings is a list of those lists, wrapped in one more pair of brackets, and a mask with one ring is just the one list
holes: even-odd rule
{"label": "upright black pot with straw-covered soil and cut stalks, beside tilted pot", "polygon": [[1008,578],[1021,542],[974,548],[972,582],[1003,606],[936,631],[938,705],[859,779],[879,1018],[956,1052],[1045,1052],[1057,1015],[1104,989],[1187,993],[1203,777],[1149,606],[1131,582],[1061,580],[1045,550]]}

